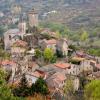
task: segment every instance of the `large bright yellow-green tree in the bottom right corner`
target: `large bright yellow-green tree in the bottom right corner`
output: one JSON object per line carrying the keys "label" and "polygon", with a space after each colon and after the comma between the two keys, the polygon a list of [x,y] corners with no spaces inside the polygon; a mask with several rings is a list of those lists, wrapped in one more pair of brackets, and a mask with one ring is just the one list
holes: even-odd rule
{"label": "large bright yellow-green tree in the bottom right corner", "polygon": [[85,100],[100,100],[100,80],[93,80],[85,86]]}

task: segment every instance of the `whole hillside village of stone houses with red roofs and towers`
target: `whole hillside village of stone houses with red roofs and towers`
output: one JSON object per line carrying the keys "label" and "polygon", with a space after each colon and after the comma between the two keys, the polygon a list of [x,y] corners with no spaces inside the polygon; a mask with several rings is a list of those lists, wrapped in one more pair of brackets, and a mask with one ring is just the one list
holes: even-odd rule
{"label": "whole hillside village of stone houses with red roofs and towers", "polygon": [[71,40],[38,25],[38,13],[32,9],[28,23],[21,19],[18,27],[4,33],[4,50],[10,57],[0,57],[0,67],[11,74],[8,85],[18,86],[23,74],[29,86],[41,77],[48,86],[49,99],[62,100],[69,79],[77,93],[82,91],[83,77],[85,83],[100,79],[100,57],[75,50]]}

